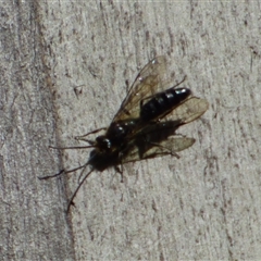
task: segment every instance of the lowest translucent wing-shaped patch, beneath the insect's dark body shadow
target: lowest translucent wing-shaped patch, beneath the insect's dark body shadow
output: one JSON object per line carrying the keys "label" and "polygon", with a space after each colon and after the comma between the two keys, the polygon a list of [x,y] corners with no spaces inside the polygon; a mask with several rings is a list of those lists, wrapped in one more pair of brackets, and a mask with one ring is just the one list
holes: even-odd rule
{"label": "lowest translucent wing-shaped patch, beneath the insect's dark body shadow", "polygon": [[[147,142],[146,145],[139,144],[133,147],[133,149],[128,152],[128,154],[124,157],[122,162],[123,163],[134,162],[139,160],[167,156],[167,154],[175,156],[175,152],[189,148],[190,146],[194,145],[194,142],[195,142],[194,138],[176,135],[161,141],[160,144],[150,144],[150,142]],[[144,149],[144,146],[147,149]]]}

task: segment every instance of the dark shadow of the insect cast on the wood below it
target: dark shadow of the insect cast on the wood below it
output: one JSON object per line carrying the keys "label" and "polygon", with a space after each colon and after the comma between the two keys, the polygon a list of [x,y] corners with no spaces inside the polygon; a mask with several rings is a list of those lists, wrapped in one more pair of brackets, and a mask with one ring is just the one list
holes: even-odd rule
{"label": "dark shadow of the insect cast on the wood below it", "polygon": [[[117,172],[122,175],[122,167],[119,169],[119,165],[128,162],[135,162],[140,160],[152,159],[157,157],[163,156],[175,156],[179,158],[176,152],[182,151],[195,142],[194,138],[188,138],[183,135],[173,135],[175,130],[181,126],[181,123],[177,121],[170,121],[164,123],[151,123],[151,125],[147,126],[144,132],[140,132],[135,138],[128,142],[125,148],[122,150],[114,151],[113,153],[99,153],[96,149],[90,151],[89,160],[75,169],[65,171],[62,170],[58,174],[39,177],[39,179],[48,179],[51,177],[60,176],[61,174],[67,174],[72,172],[76,172],[82,170],[79,179],[83,176],[86,167],[90,165],[90,171],[79,181],[77,188],[74,194],[71,196],[71,199],[67,203],[67,210],[70,211],[70,207],[74,206],[74,198],[78,192],[79,188],[86,181],[86,178],[92,173],[92,171],[102,172],[105,169],[114,166]],[[160,135],[159,135],[160,134]],[[92,146],[80,146],[80,147],[50,147],[53,149],[86,149],[92,148]]]}

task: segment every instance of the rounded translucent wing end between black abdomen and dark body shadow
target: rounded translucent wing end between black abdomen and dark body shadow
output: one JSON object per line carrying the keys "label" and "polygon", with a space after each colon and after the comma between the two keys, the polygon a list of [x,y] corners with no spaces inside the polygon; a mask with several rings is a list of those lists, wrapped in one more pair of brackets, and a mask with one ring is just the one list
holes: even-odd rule
{"label": "rounded translucent wing end between black abdomen and dark body shadow", "polygon": [[192,122],[200,117],[209,108],[209,102],[198,97],[191,97],[176,107],[165,116],[165,121],[175,121],[178,125]]}

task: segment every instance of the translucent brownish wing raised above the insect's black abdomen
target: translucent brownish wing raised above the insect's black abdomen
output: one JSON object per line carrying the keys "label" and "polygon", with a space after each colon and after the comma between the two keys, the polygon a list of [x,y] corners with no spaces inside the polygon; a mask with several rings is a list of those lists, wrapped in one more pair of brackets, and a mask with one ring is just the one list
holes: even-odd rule
{"label": "translucent brownish wing raised above the insect's black abdomen", "polygon": [[164,88],[165,57],[157,57],[137,75],[113,122],[139,116],[140,101]]}

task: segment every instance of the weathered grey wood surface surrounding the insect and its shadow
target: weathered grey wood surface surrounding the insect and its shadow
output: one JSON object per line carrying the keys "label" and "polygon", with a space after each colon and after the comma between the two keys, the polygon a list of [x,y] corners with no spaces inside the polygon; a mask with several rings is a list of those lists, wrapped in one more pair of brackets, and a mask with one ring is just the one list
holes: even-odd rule
{"label": "weathered grey wood surface surrounding the insect and its shadow", "polygon": [[[260,259],[260,18],[258,1],[2,3],[0,259]],[[77,175],[37,177],[89,152],[48,146],[107,126],[159,54],[210,102],[178,130],[197,142],[124,183],[92,173],[66,215]]]}

